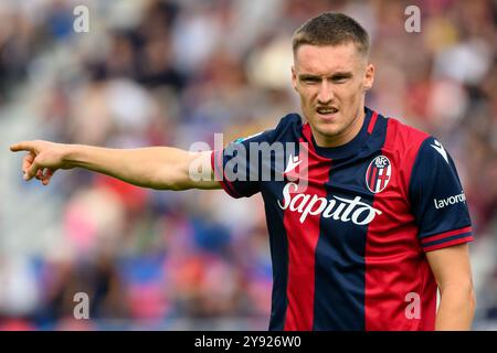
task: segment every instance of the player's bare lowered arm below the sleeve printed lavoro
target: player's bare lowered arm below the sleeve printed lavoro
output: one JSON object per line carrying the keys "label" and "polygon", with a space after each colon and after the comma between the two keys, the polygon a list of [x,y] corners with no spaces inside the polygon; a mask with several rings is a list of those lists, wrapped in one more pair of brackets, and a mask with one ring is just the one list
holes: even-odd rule
{"label": "player's bare lowered arm below the sleeve printed lavoro", "polygon": [[475,293],[468,245],[430,252],[426,257],[441,293],[435,330],[470,330],[475,313]]}

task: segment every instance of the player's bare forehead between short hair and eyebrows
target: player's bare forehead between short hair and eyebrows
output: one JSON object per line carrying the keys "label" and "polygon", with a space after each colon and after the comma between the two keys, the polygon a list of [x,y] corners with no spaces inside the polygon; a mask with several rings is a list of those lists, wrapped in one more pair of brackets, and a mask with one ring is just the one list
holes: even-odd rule
{"label": "player's bare forehead between short hair and eyebrows", "polygon": [[353,72],[360,63],[353,43],[340,45],[304,44],[295,54],[295,67],[299,73],[325,75],[334,72]]}

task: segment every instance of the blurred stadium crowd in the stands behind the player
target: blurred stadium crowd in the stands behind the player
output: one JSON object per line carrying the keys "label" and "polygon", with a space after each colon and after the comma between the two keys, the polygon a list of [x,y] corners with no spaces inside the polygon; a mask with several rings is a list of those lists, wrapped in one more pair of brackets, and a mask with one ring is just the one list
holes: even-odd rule
{"label": "blurred stadium crowd in the stands behind the player", "polygon": [[[73,10],[89,9],[75,33]],[[421,9],[408,33],[404,9]],[[290,35],[332,10],[372,36],[368,106],[440,138],[476,242],[475,329],[497,330],[497,2],[0,2],[0,329],[265,330],[271,261],[260,196],[138,189],[83,170],[25,183],[18,140],[115,148],[212,143],[298,110]],[[91,319],[76,321],[86,292]]]}

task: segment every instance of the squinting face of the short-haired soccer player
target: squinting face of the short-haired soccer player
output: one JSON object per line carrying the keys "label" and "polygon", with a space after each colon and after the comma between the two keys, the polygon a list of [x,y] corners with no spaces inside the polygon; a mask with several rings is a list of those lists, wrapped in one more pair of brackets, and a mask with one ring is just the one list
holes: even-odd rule
{"label": "squinting face of the short-haired soccer player", "polygon": [[353,43],[297,49],[292,82],[319,146],[347,143],[360,131],[373,76],[374,67]]}

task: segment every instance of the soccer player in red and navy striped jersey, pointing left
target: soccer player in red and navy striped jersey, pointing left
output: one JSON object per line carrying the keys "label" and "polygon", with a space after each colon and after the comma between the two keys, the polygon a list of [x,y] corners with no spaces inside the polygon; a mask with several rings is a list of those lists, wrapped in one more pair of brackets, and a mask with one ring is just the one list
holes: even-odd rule
{"label": "soccer player in red and navy striped jersey, pointing left", "polygon": [[[80,167],[145,188],[261,193],[274,277],[269,330],[470,329],[473,235],[450,154],[430,135],[364,106],[374,66],[369,35],[353,19],[308,20],[293,50],[304,118],[289,114],[222,150],[42,140],[11,150],[29,152],[24,179],[44,185],[56,170]],[[284,170],[278,153],[261,158],[254,143],[281,143]],[[197,168],[208,180],[191,178]]]}

